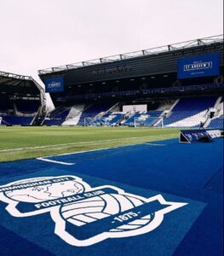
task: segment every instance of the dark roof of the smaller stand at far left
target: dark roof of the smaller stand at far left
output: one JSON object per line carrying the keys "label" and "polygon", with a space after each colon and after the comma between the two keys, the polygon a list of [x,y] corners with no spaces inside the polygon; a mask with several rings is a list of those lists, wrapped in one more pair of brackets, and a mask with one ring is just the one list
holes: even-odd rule
{"label": "dark roof of the smaller stand at far left", "polygon": [[0,91],[5,94],[35,96],[43,92],[43,88],[32,77],[0,71]]}

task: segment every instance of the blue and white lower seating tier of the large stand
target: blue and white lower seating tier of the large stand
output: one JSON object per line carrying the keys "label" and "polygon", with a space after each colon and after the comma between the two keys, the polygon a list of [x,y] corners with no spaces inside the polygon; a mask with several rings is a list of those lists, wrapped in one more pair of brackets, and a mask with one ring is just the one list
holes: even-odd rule
{"label": "blue and white lower seating tier of the large stand", "polygon": [[[193,127],[210,121],[208,128],[221,127],[223,110],[220,102],[219,114],[210,119],[210,109],[214,108],[217,96],[186,97],[176,100],[172,105],[158,102],[160,109],[147,112],[108,112],[112,104],[78,104],[72,107],[55,108],[44,119],[44,125],[124,125],[124,126],[161,126],[163,118],[165,127]],[[222,100],[223,101],[223,100]],[[164,106],[164,107],[161,107]],[[222,108],[223,109],[223,108]],[[213,121],[214,120],[214,121]]]}

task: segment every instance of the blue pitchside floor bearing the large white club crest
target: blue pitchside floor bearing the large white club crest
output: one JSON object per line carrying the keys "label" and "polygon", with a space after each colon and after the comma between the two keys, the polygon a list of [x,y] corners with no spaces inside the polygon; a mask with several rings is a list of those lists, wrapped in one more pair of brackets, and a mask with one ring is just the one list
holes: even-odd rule
{"label": "blue pitchside floor bearing the large white club crest", "polygon": [[0,177],[1,255],[223,254],[223,139],[2,163]]}

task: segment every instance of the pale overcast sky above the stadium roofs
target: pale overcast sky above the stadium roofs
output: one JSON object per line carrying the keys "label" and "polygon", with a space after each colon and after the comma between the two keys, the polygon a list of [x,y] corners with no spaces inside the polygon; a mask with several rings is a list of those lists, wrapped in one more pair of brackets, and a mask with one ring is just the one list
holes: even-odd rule
{"label": "pale overcast sky above the stadium roofs", "polygon": [[0,71],[37,70],[222,34],[222,0],[0,0]]}

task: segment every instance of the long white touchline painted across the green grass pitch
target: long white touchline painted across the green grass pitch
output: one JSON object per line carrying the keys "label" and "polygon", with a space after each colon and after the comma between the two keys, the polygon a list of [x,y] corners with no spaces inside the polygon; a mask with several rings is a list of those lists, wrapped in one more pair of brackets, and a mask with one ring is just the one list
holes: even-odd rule
{"label": "long white touchline painted across the green grass pitch", "polygon": [[38,149],[38,148],[54,148],[59,146],[72,146],[72,145],[80,145],[80,144],[88,144],[88,143],[109,143],[114,141],[125,141],[130,139],[143,139],[143,138],[151,138],[151,137],[168,137],[176,135],[175,133],[170,133],[169,135],[152,135],[146,137],[125,137],[125,138],[117,138],[117,139],[110,139],[110,140],[101,140],[101,141],[90,141],[90,142],[82,142],[82,143],[63,143],[63,144],[53,144],[53,145],[45,145],[45,146],[37,146],[37,147],[26,147],[26,148],[9,148],[0,150],[0,152],[12,152],[12,151],[21,151],[26,149]]}

